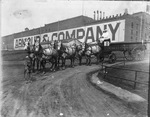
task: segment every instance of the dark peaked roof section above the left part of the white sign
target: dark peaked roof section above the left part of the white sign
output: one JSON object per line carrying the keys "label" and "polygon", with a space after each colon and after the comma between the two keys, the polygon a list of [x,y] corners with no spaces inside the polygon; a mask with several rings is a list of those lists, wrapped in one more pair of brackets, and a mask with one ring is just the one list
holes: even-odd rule
{"label": "dark peaked roof section above the left part of the white sign", "polygon": [[[92,18],[81,15],[81,16],[45,24],[45,26],[43,26],[43,27],[30,29],[28,31],[22,31],[22,32],[11,34],[11,35],[14,35],[14,38],[31,36],[31,35],[41,34],[41,33],[48,33],[48,32],[54,32],[54,31],[58,31],[58,30],[76,28],[79,26],[84,26],[85,24],[92,22],[92,21],[93,21]],[[11,35],[9,35],[9,36],[11,36]],[[6,37],[6,36],[4,36],[4,37]]]}

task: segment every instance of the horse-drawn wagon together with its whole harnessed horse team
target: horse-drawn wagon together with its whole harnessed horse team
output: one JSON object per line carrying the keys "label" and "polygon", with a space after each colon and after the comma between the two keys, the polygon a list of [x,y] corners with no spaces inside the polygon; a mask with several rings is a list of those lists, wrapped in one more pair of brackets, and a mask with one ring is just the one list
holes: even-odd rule
{"label": "horse-drawn wagon together with its whole harnessed horse team", "polygon": [[[38,42],[37,42],[38,43]],[[37,69],[39,64],[45,69],[46,62],[51,63],[51,70],[61,67],[65,68],[65,60],[71,60],[71,66],[74,66],[76,58],[79,64],[82,63],[82,57],[85,56],[86,64],[91,64],[92,56],[97,58],[97,62],[102,62],[108,57],[109,63],[114,63],[117,59],[116,51],[123,53],[127,60],[142,60],[145,56],[146,44],[142,42],[117,42],[111,43],[110,39],[103,41],[97,40],[94,43],[82,43],[78,39],[68,39],[63,41],[49,41],[29,46],[30,55],[34,55],[31,61],[34,70],[35,62]]]}

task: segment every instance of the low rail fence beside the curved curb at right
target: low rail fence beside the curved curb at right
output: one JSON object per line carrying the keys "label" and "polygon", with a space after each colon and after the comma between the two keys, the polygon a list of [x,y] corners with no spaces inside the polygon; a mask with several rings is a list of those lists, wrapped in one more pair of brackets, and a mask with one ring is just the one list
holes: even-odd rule
{"label": "low rail fence beside the curved curb at right", "polygon": [[[142,82],[142,81],[138,81],[138,80],[137,80],[138,73],[144,73],[144,74],[149,75],[149,72],[147,72],[147,71],[132,70],[132,69],[127,69],[127,68],[113,67],[113,66],[111,66],[111,67],[103,66],[103,68],[104,68],[104,79],[105,79],[107,76],[109,76],[110,78],[120,79],[121,81],[122,81],[122,80],[126,80],[126,81],[129,81],[129,82],[133,82],[133,83],[134,83],[134,86],[133,86],[134,89],[136,88],[137,83],[138,83],[138,84],[148,85],[148,81],[147,81],[147,82]],[[111,70],[117,69],[117,70],[119,70],[119,71],[122,70],[122,71],[126,71],[126,72],[127,72],[127,71],[128,71],[128,72],[132,72],[132,73],[134,74],[134,79],[131,80],[131,79],[126,79],[126,78],[123,78],[123,77],[117,77],[117,76],[111,75],[111,74],[108,73],[108,69],[111,69]]]}

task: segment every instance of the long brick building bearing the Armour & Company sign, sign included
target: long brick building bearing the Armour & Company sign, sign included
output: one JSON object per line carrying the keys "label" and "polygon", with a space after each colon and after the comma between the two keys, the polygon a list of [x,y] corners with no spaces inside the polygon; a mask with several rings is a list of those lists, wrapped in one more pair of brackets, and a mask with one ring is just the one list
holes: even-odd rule
{"label": "long brick building bearing the Armour & Company sign, sign included", "polygon": [[[94,17],[96,17],[95,14]],[[150,15],[145,12],[132,15],[126,12],[106,17],[100,14],[100,18],[95,19],[78,16],[7,35],[2,37],[2,49],[23,49],[26,41],[33,44],[37,38],[41,40],[41,43],[70,38],[77,38],[88,43],[99,39],[104,29],[110,33],[113,43],[150,40]]]}

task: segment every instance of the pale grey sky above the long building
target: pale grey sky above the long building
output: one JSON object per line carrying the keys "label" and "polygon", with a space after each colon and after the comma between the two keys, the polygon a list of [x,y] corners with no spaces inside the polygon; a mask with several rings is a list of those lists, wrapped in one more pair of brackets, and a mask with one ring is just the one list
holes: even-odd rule
{"label": "pale grey sky above the long building", "polygon": [[1,36],[79,15],[93,18],[97,10],[105,12],[105,16],[123,14],[126,8],[129,14],[146,11],[147,4],[142,1],[1,0]]}

